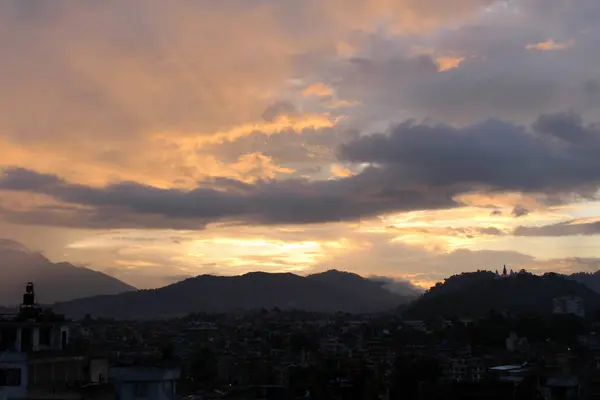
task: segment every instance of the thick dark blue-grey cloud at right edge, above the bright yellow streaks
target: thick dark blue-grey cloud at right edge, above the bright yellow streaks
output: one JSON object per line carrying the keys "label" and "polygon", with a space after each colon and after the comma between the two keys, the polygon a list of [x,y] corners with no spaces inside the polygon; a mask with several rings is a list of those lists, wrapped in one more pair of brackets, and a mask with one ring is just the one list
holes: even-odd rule
{"label": "thick dark blue-grey cloud at right edge, above the bright yellow streaks", "polygon": [[600,130],[573,113],[531,129],[500,120],[456,128],[404,122],[342,145],[340,158],[384,165],[405,185],[589,195],[600,182]]}

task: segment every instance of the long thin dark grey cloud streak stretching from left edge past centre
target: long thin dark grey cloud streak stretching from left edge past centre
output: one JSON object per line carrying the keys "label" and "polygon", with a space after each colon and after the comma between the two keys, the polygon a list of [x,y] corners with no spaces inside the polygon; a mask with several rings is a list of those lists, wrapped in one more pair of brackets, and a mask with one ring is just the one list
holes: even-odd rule
{"label": "long thin dark grey cloud streak stretching from left edge past centre", "polygon": [[[340,180],[262,181],[246,184],[217,179],[191,191],[159,189],[133,182],[97,188],[78,185],[54,175],[16,168],[6,169],[0,190],[40,193],[85,208],[66,217],[66,224],[88,227],[173,227],[198,229],[215,221],[257,224],[308,224],[355,220],[401,210],[438,209],[458,204],[447,190],[402,188],[385,169],[369,168]],[[5,218],[22,223],[43,224],[45,212],[11,213]],[[50,215],[50,224],[63,216]],[[20,217],[20,219],[19,219]],[[166,219],[166,220],[165,220]],[[15,221],[15,222],[17,222]],[[37,222],[36,222],[37,221]],[[86,224],[85,221],[88,221]]]}

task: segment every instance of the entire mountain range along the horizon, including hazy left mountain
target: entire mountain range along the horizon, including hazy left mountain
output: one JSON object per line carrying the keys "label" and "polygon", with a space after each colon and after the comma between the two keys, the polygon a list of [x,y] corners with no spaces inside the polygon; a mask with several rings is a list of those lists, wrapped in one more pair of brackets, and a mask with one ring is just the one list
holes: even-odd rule
{"label": "entire mountain range along the horizon, including hazy left mountain", "polygon": [[[317,312],[384,312],[402,309],[407,318],[476,317],[491,309],[552,312],[555,297],[576,295],[586,311],[600,310],[600,273],[543,276],[519,273],[498,278],[489,271],[454,275],[421,295],[414,287],[393,290],[387,278],[363,278],[330,270],[308,276],[252,272],[201,275],[152,290],[136,290],[101,272],[53,263],[15,241],[0,239],[0,306],[21,300],[27,282],[36,283],[38,302],[78,318],[170,318],[192,312],[301,309]],[[410,290],[408,290],[410,289]],[[1,309],[0,309],[1,311]]]}

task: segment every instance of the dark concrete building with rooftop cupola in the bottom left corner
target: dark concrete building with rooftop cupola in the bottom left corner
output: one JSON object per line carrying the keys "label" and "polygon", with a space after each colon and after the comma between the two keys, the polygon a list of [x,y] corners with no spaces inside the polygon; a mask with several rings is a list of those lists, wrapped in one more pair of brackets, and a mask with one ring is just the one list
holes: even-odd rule
{"label": "dark concrete building with rooftop cupola in the bottom left corner", "polygon": [[80,399],[77,388],[108,375],[106,360],[70,347],[69,322],[38,307],[27,284],[17,314],[0,316],[0,400]]}

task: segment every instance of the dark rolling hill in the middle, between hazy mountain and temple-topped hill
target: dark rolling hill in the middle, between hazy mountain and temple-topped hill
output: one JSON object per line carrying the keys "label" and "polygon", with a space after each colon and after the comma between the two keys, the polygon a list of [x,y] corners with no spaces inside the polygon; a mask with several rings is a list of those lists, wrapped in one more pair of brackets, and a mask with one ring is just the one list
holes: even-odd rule
{"label": "dark rolling hill in the middle, between hazy mountain and temple-topped hill", "polygon": [[274,307],[360,313],[390,310],[404,301],[369,279],[339,271],[308,277],[253,272],[230,277],[202,275],[160,289],[79,299],[54,308],[72,317],[89,313],[129,319]]}

